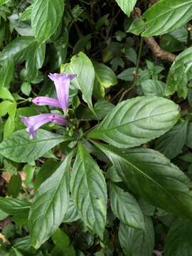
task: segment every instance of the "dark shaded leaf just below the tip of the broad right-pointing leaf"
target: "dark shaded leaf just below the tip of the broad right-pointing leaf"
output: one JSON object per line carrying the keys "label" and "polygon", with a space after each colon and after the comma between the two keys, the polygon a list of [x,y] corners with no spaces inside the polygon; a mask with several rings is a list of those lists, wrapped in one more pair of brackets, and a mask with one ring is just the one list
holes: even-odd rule
{"label": "dark shaded leaf just below the tip of the broad right-pointing leaf", "polygon": [[156,140],[155,149],[164,154],[169,159],[173,159],[181,154],[186,143],[188,122],[176,124],[169,132]]}

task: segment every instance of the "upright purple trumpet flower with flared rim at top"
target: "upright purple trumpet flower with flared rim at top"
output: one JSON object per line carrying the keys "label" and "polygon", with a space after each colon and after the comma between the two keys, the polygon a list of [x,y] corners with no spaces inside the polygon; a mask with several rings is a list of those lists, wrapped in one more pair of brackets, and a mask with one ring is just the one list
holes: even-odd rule
{"label": "upright purple trumpet flower with flared rim at top", "polygon": [[63,112],[65,113],[68,109],[70,81],[76,78],[76,75],[66,73],[50,73],[48,75],[48,78],[50,78],[50,80],[52,80],[55,84],[60,107],[63,109]]}

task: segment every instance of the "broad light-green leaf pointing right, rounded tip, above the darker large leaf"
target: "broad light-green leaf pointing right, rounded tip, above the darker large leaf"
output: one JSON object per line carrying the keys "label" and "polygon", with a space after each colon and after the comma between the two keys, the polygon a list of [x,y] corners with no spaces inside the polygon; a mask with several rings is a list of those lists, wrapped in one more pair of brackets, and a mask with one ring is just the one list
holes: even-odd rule
{"label": "broad light-green leaf pointing right, rounded tip, above the darker large leaf", "polygon": [[168,132],[178,117],[178,106],[171,100],[135,97],[114,107],[88,137],[122,148],[139,146]]}

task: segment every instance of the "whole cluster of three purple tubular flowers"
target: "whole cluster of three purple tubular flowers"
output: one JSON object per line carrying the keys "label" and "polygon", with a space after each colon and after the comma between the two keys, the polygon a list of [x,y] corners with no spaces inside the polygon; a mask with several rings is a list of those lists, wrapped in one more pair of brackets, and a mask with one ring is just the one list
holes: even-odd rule
{"label": "whole cluster of three purple tubular flowers", "polygon": [[[63,110],[63,113],[66,114],[68,110],[70,81],[75,77],[75,74],[49,74],[48,78],[54,82],[58,98],[35,97],[32,102],[39,106],[48,105],[51,107],[59,107]],[[36,136],[38,128],[43,124],[48,124],[49,122],[62,126],[68,124],[68,120],[63,117],[63,115],[52,113],[38,114],[33,117],[21,117],[21,121],[26,125],[26,131],[28,132],[30,139],[33,139]]]}

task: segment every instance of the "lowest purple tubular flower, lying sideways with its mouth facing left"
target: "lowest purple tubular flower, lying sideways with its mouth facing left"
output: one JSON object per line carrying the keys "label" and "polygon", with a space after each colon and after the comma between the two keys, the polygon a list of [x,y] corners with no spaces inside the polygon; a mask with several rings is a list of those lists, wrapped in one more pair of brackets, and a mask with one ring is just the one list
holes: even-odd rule
{"label": "lowest purple tubular flower, lying sideways with its mouth facing left", "polygon": [[38,114],[33,117],[21,117],[21,121],[26,125],[26,131],[29,133],[29,138],[33,139],[36,132],[43,124],[53,122],[54,124],[66,125],[68,121],[60,114]]}

